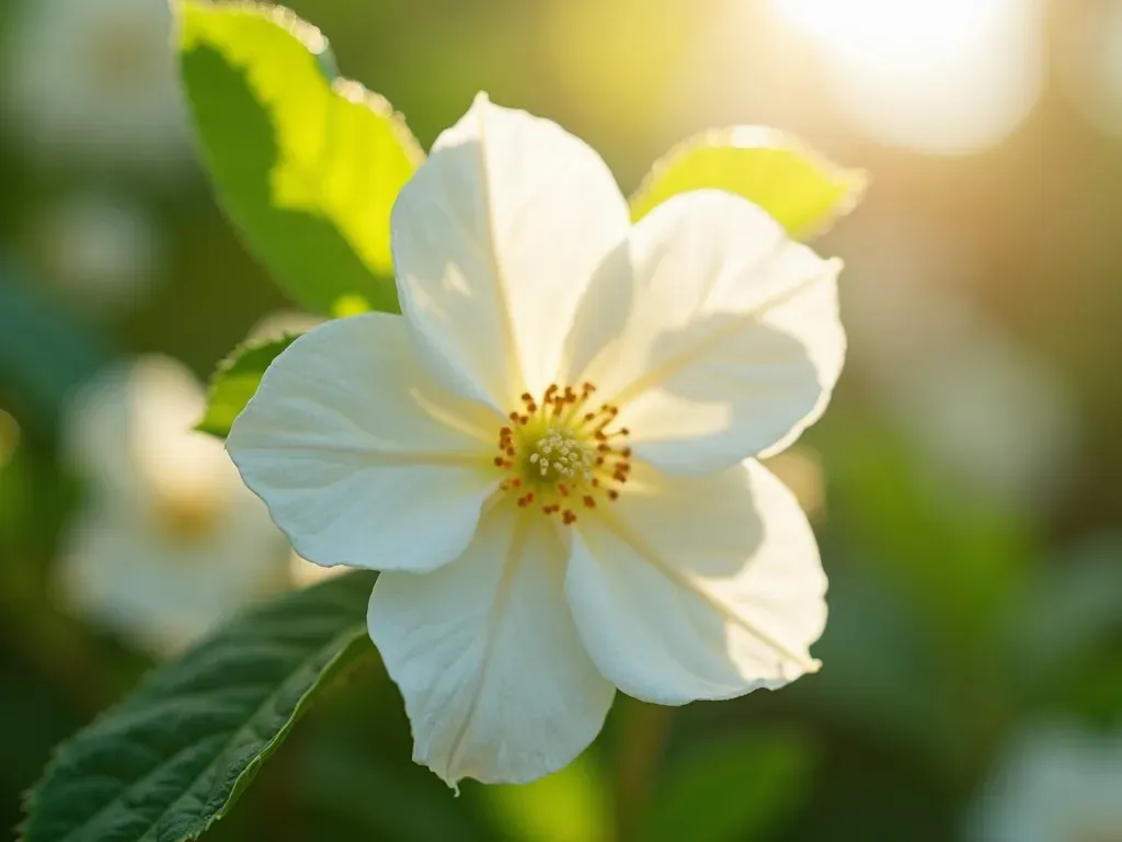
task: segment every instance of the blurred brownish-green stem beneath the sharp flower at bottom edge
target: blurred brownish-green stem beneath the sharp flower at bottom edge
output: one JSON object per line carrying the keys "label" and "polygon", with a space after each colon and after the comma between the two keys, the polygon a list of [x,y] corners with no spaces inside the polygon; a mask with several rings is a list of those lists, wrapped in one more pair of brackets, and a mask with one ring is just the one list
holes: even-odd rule
{"label": "blurred brownish-green stem beneath the sharp flower at bottom edge", "polygon": [[651,800],[673,707],[624,698],[623,743],[616,767],[616,829],[619,842],[637,839]]}

